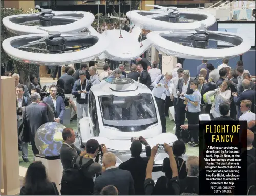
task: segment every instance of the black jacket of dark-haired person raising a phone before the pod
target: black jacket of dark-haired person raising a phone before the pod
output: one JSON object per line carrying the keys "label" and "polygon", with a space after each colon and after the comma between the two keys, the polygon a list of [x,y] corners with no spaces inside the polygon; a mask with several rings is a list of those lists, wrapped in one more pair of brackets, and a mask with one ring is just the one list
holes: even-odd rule
{"label": "black jacket of dark-haired person raising a phone before the pod", "polygon": [[146,147],[147,157],[132,157],[121,163],[119,169],[130,171],[134,180],[135,195],[145,195],[144,182],[146,178],[146,166],[150,157],[151,147]]}

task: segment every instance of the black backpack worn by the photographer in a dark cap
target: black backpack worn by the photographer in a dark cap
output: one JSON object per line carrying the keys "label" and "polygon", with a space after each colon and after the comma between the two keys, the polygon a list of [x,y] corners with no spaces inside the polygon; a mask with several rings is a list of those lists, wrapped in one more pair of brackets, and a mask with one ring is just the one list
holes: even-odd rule
{"label": "black backpack worn by the photographer in a dark cap", "polygon": [[[79,166],[76,166],[76,160],[79,158]],[[93,195],[94,182],[93,179],[83,175],[82,169],[87,169],[94,163],[90,159],[86,164],[82,165],[83,156],[75,156],[72,160],[72,167],[63,170],[61,179],[61,195]],[[71,188],[72,187],[72,188]]]}

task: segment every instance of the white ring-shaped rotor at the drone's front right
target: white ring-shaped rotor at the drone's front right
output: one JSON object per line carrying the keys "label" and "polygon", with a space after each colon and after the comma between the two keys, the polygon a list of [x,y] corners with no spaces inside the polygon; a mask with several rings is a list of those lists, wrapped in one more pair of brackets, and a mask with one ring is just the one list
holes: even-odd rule
{"label": "white ring-shaped rotor at the drone's front right", "polygon": [[[239,56],[251,48],[244,35],[236,33],[207,31],[205,28],[193,31],[156,31],[147,34],[152,45],[165,54],[196,60],[214,60]],[[232,47],[208,48],[209,41],[227,42]]]}

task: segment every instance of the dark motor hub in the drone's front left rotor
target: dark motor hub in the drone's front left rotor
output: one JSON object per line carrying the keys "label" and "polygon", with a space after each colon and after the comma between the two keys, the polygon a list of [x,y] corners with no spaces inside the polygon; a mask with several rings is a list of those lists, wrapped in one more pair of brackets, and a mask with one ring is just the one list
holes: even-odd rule
{"label": "dark motor hub in the drone's front left rotor", "polygon": [[49,37],[46,39],[46,49],[52,53],[59,53],[65,49],[64,37]]}

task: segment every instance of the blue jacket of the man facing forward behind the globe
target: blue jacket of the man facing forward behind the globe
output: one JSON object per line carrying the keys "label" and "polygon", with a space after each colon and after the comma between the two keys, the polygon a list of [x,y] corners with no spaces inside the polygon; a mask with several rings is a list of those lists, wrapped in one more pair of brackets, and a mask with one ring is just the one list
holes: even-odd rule
{"label": "blue jacket of the man facing forward behind the globe", "polygon": [[51,95],[45,97],[43,99],[43,101],[48,103],[53,108],[55,118],[60,118],[60,123],[63,124],[65,105],[64,105],[63,98],[61,96],[58,96],[58,95],[56,95],[56,96],[57,96],[57,98],[56,98],[56,110],[54,108],[54,104],[53,104]]}

